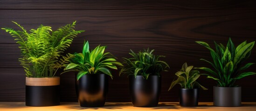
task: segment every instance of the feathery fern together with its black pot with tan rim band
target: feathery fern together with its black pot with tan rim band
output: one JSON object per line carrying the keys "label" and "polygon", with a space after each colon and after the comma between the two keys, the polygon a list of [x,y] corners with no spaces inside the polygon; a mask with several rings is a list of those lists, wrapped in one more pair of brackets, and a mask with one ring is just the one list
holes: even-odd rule
{"label": "feathery fern together with its black pot with tan rim band", "polygon": [[[57,70],[63,67],[70,55],[62,57],[61,53],[69,47],[78,33],[76,21],[52,31],[51,27],[40,25],[27,32],[21,25],[16,31],[1,28],[13,36],[21,49],[21,66],[26,72],[26,105],[53,106],[60,104],[60,78],[55,77]],[[62,57],[62,59],[59,59]]]}

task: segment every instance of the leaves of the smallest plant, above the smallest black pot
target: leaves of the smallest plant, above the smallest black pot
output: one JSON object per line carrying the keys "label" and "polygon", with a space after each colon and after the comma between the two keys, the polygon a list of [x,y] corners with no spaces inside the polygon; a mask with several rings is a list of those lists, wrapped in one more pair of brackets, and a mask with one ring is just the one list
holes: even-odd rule
{"label": "leaves of the smallest plant, above the smallest black pot", "polygon": [[185,89],[202,88],[203,90],[207,90],[207,88],[201,86],[196,81],[200,77],[200,72],[198,70],[192,70],[193,67],[194,66],[187,66],[187,62],[185,62],[180,71],[175,74],[178,78],[177,80],[173,80],[168,91],[170,91],[176,84],[180,84],[181,88]]}

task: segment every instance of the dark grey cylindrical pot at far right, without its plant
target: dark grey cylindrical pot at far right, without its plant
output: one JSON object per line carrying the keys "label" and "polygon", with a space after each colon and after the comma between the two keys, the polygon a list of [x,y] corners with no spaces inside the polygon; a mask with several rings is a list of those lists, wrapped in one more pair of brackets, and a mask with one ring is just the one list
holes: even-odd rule
{"label": "dark grey cylindrical pot at far right, without its plant", "polygon": [[214,86],[214,105],[222,107],[241,106],[241,87]]}

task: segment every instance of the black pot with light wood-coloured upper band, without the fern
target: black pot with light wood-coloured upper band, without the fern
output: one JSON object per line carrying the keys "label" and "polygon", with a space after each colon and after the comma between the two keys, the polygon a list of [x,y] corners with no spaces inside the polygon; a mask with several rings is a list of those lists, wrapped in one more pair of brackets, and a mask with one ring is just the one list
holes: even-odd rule
{"label": "black pot with light wood-coloured upper band, without the fern", "polygon": [[26,78],[27,106],[60,105],[60,77]]}

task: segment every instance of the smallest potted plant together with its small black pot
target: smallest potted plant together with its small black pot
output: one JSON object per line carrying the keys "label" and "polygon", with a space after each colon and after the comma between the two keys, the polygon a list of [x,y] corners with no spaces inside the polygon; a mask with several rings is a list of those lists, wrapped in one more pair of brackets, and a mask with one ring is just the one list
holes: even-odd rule
{"label": "smallest potted plant together with its small black pot", "polygon": [[196,80],[200,77],[198,70],[192,70],[194,66],[187,66],[187,62],[182,65],[177,75],[177,80],[173,80],[170,91],[173,86],[180,84],[180,106],[194,107],[198,105],[199,88],[207,90],[204,86],[201,86]]}

